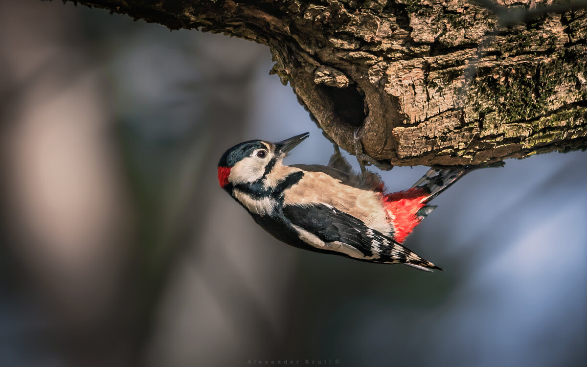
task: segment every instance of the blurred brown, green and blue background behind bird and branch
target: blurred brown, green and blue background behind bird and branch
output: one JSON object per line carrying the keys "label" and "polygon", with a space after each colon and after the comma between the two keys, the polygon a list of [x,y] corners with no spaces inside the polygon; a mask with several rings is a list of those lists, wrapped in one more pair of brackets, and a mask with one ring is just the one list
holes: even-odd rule
{"label": "blurred brown, green and blue background behind bird and branch", "polygon": [[438,197],[406,245],[444,272],[298,250],[216,178],[244,140],[332,153],[271,66],[240,39],[0,0],[0,366],[587,365],[586,153]]}

